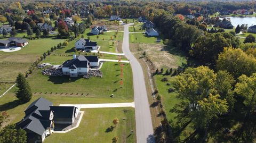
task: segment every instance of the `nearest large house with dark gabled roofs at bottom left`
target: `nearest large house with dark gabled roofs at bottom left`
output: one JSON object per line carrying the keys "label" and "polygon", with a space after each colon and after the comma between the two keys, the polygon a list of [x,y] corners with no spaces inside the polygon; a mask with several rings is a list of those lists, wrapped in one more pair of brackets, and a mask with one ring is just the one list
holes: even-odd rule
{"label": "nearest large house with dark gabled roofs at bottom left", "polygon": [[28,142],[43,142],[54,130],[54,124],[72,124],[76,119],[77,107],[52,105],[41,97],[26,108],[25,117],[17,127],[27,132]]}

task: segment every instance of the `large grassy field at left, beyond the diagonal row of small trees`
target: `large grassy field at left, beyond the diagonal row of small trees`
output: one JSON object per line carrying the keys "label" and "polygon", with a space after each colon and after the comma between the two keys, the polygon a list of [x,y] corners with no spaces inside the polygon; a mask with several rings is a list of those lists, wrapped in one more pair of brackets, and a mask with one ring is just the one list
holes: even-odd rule
{"label": "large grassy field at left, beyond the diagonal row of small trees", "polygon": [[0,52],[0,65],[2,73],[0,82],[14,82],[19,72],[25,73],[29,66],[34,63],[39,56],[47,52],[51,47],[63,43],[64,39],[39,38],[29,40],[29,44],[17,52]]}

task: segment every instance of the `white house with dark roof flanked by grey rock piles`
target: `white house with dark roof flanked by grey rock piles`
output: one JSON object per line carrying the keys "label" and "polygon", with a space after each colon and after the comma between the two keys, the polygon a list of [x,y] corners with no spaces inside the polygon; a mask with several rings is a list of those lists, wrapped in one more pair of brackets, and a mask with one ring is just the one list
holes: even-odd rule
{"label": "white house with dark roof flanked by grey rock piles", "polygon": [[78,77],[89,72],[90,66],[98,66],[98,56],[73,55],[72,60],[67,60],[62,64],[62,74],[70,77]]}

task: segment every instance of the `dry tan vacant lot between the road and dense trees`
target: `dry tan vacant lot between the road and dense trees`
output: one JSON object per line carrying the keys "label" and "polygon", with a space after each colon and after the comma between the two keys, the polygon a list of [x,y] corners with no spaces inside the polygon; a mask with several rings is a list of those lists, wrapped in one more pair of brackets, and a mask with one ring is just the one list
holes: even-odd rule
{"label": "dry tan vacant lot between the road and dense trees", "polygon": [[166,47],[162,44],[130,43],[130,49],[134,54],[146,56],[158,68],[178,68],[182,63],[186,63],[186,58],[182,52],[174,47]]}

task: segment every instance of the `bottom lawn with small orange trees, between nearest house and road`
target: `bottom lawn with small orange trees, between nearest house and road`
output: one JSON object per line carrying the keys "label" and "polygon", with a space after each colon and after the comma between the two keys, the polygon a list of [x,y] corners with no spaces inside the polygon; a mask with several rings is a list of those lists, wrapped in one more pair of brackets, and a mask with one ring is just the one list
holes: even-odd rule
{"label": "bottom lawn with small orange trees, between nearest house and road", "polygon": [[[95,108],[82,109],[84,115],[79,127],[67,133],[53,133],[44,142],[136,142],[134,108]],[[107,131],[113,120],[119,119],[113,131]],[[134,132],[131,134],[131,130]]]}

